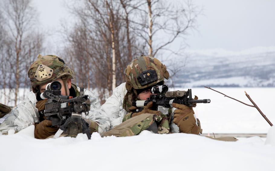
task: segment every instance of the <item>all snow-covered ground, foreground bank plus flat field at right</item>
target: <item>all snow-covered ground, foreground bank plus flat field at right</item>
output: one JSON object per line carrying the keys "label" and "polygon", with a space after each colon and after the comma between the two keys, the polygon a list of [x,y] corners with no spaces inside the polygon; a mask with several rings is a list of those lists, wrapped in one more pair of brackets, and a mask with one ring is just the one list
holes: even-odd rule
{"label": "all snow-covered ground, foreground bank plus flat field at right", "polygon": [[[275,123],[274,88],[215,88],[250,104],[246,91]],[[170,89],[171,91],[172,89]],[[185,90],[184,88],[174,90]],[[268,123],[255,108],[206,88],[193,95],[211,99],[194,108],[204,133],[267,133]],[[148,131],[132,137],[34,138],[34,126],[0,135],[1,171],[8,170],[275,170],[275,127],[267,140],[240,138],[236,142],[212,140],[184,133],[159,135]]]}

